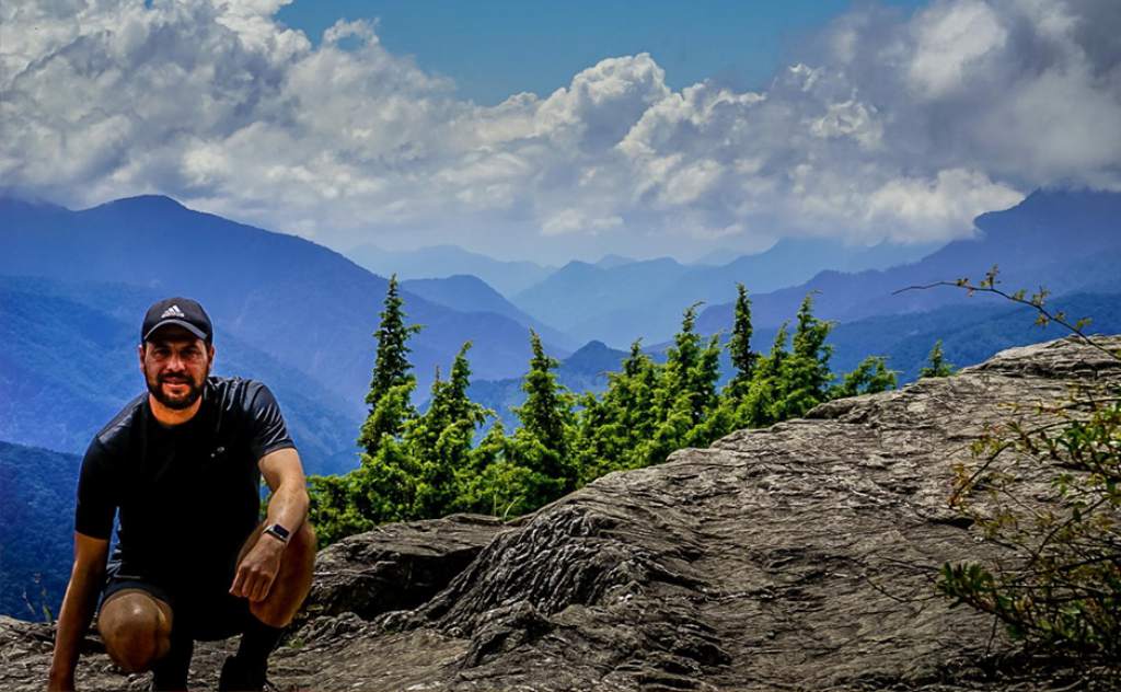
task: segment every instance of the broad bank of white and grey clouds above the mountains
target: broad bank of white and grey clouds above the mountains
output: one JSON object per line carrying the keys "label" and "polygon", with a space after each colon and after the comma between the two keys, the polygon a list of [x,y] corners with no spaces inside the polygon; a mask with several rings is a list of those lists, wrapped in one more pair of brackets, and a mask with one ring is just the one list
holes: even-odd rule
{"label": "broad bank of white and grey clouds above the mountains", "polygon": [[0,185],[74,206],[164,193],[341,248],[552,260],[947,239],[1037,186],[1121,190],[1113,0],[873,6],[759,92],[676,91],[639,54],[494,107],[374,24],[314,47],[282,4],[0,6]]}

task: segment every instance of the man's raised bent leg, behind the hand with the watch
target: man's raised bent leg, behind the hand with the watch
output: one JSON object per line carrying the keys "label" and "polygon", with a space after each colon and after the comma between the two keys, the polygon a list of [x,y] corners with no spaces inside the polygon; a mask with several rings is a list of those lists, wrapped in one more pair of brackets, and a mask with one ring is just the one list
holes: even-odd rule
{"label": "man's raised bent leg, behind the hand with the watch", "polygon": [[[257,527],[238,555],[238,563],[261,536]],[[266,536],[265,541],[272,541]],[[268,657],[280,642],[284,628],[296,617],[296,611],[307,598],[315,570],[315,532],[306,522],[300,526],[280,559],[280,571],[263,600],[249,603],[249,621],[241,636],[238,653],[222,666],[219,689],[260,689],[268,668]]]}

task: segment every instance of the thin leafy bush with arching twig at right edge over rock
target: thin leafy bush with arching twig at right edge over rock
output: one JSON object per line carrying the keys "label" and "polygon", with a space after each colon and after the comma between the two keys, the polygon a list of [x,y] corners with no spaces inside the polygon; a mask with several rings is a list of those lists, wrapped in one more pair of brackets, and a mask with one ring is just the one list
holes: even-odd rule
{"label": "thin leafy bush with arching twig at right edge over rock", "polygon": [[[991,293],[1037,312],[1036,324],[1055,322],[1080,342],[1121,361],[1087,336],[1088,319],[1071,322],[1047,307],[1048,292],[1008,293],[997,287],[998,269],[974,284],[967,278],[936,282],[897,290],[935,286],[964,288],[970,295]],[[1008,564],[946,563],[938,590],[955,605],[967,605],[1003,622],[1013,639],[1048,652],[1076,653],[1117,666],[1121,655],[1121,396],[1117,385],[1106,395],[1080,389],[1071,400],[1039,405],[1051,419],[1037,425],[1018,421],[989,430],[972,454],[980,464],[955,469],[951,504],[1011,552]],[[1017,407],[1019,410],[1020,407]],[[999,460],[1012,461],[997,467]],[[1051,469],[1048,490],[1023,486],[1021,460]],[[986,507],[967,499],[986,492]]]}

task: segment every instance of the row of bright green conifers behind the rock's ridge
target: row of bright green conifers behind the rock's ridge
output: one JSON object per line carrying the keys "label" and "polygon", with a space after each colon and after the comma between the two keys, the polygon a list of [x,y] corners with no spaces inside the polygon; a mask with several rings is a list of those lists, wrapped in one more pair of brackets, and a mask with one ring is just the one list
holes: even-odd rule
{"label": "row of bright green conifers behind the rock's ridge", "polygon": [[[575,394],[559,385],[554,373],[559,363],[530,331],[531,358],[521,385],[526,399],[515,408],[520,426],[507,433],[494,412],[467,396],[470,342],[446,378],[437,370],[428,407],[420,412],[413,405],[416,378],[408,341],[420,326],[406,324],[397,277],[391,277],[374,333],[360,465],[343,476],[309,479],[311,518],[321,544],[382,523],[455,511],[521,515],[612,471],[660,463],[675,450],[798,417],[831,399],[893,389],[896,372],[879,356],[833,375],[833,349],[826,343],[833,323],[814,316],[813,295],[802,302],[793,333],[789,323],[782,324],[770,350],[761,353],[751,345],[751,299],[738,285],[726,343],[734,375],[722,388],[725,347],[720,334],[697,333],[700,303],[685,310],[665,362],[636,341],[601,394]],[[951,371],[935,344],[923,375]],[[476,440],[491,418],[490,430]]]}

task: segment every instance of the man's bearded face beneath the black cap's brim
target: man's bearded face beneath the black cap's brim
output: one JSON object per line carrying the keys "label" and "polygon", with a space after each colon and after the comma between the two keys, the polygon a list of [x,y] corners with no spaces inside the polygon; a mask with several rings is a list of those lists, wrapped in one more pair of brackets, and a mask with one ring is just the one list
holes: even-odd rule
{"label": "man's bearded face beneath the black cap's brim", "polygon": [[165,326],[140,344],[148,391],[168,408],[189,408],[202,396],[214,347],[178,326]]}

